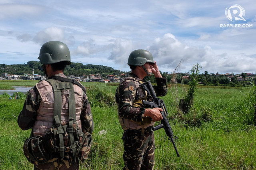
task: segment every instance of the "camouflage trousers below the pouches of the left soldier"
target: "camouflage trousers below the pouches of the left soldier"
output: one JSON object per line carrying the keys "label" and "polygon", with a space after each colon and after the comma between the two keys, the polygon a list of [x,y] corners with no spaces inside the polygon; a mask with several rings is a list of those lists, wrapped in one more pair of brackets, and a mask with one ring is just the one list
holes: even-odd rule
{"label": "camouflage trousers below the pouches of the left soldier", "polygon": [[35,164],[34,170],[79,170],[79,160],[76,158],[76,162],[72,162],[72,157],[68,154],[64,154],[64,158],[61,158],[59,154],[53,156],[45,164]]}

